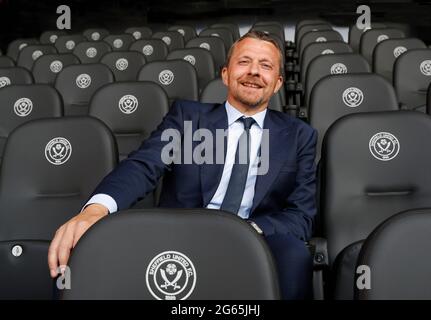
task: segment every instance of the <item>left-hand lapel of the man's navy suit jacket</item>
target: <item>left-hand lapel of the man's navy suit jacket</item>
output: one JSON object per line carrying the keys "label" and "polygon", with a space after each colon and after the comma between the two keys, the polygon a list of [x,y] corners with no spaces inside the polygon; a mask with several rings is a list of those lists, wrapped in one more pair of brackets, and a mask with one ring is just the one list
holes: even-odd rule
{"label": "left-hand lapel of the man's navy suit jacket", "polygon": [[216,163],[216,130],[227,130],[228,128],[227,113],[224,103],[215,105],[211,112],[201,115],[201,117],[199,117],[199,128],[208,129],[213,135],[213,164],[204,163],[200,166],[203,205],[206,206],[217,191],[223,174],[224,160],[226,158],[227,138],[225,137],[223,139],[223,163]]}

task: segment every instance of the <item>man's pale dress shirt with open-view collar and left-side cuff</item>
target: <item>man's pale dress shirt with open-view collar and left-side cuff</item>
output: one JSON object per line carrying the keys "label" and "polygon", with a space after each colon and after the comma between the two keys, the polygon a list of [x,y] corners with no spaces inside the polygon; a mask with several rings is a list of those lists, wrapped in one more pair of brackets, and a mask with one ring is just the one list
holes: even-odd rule
{"label": "man's pale dress shirt with open-view collar and left-side cuff", "polygon": [[[232,167],[235,162],[235,153],[238,146],[238,140],[244,131],[244,125],[241,121],[237,121],[241,117],[246,117],[237,109],[235,109],[229,102],[225,104],[227,119],[228,119],[228,136],[227,136],[227,150],[226,159],[223,167],[223,174],[217,187],[217,190],[208,203],[208,209],[220,209],[226,194],[227,187],[229,185],[229,179],[232,173]],[[259,146],[262,140],[263,123],[265,120],[266,109],[254,114],[252,117],[256,121],[250,128],[250,165],[245,184],[244,195],[241,201],[241,206],[238,211],[238,215],[243,219],[248,219],[250,216],[250,210],[253,205],[254,198],[254,187],[257,178],[257,164],[258,164],[258,152]],[[108,208],[109,213],[114,213],[118,210],[116,201],[108,194],[96,194],[85,204],[84,208],[90,204],[98,203]]]}

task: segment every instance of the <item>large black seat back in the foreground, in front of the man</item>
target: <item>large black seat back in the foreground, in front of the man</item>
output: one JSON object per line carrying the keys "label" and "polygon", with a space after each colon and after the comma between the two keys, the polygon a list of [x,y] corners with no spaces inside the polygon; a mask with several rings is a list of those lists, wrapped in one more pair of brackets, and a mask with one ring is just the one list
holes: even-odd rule
{"label": "large black seat back in the foreground, in front of the man", "polygon": [[110,215],[80,240],[70,269],[65,300],[280,298],[263,238],[242,219],[209,209]]}

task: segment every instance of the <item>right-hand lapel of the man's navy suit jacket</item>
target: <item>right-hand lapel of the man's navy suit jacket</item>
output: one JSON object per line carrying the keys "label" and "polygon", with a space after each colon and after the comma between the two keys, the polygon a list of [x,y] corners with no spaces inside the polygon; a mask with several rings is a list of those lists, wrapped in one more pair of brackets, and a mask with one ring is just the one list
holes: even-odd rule
{"label": "right-hand lapel of the man's navy suit jacket", "polygon": [[263,128],[269,132],[268,172],[257,176],[251,213],[267,194],[290,152],[289,146],[286,145],[288,134],[286,122],[276,117],[270,109],[267,111]]}

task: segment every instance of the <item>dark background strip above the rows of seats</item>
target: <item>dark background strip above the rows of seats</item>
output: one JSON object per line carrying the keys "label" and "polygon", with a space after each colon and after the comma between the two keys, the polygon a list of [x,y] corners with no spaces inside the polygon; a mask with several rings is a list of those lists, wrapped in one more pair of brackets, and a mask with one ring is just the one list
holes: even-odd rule
{"label": "dark background strip above the rows of seats", "polygon": [[356,7],[368,4],[372,21],[409,24],[416,36],[431,44],[431,0],[0,0],[0,47],[17,38],[39,37],[56,29],[57,6],[71,8],[72,33],[89,27],[104,27],[111,33],[127,27],[150,25],[163,29],[167,24],[185,23],[198,28],[216,21],[241,25],[257,20],[280,20],[293,26],[297,20],[320,17],[335,26],[355,23]]}

